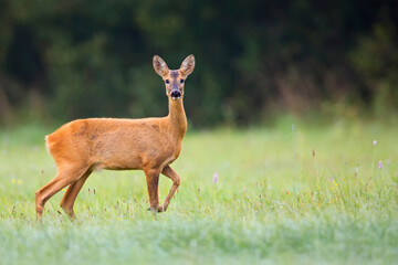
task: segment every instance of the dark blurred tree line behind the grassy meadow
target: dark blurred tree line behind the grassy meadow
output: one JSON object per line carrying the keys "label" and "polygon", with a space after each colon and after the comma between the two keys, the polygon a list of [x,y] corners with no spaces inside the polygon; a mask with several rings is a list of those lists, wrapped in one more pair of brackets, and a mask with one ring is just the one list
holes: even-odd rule
{"label": "dark blurred tree line behind the grassy meadow", "polygon": [[195,126],[398,106],[396,0],[1,0],[0,119],[167,114],[160,55],[197,67]]}

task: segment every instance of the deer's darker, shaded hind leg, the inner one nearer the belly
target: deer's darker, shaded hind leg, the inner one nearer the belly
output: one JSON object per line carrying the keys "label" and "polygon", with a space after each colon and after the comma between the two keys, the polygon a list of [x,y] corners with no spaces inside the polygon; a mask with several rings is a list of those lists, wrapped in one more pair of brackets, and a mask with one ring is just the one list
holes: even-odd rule
{"label": "deer's darker, shaded hind leg, the inner one nearer the belly", "polygon": [[76,216],[73,211],[73,205],[76,200],[76,197],[77,197],[78,192],[81,191],[84,182],[87,180],[88,176],[93,171],[91,169],[88,169],[78,180],[72,182],[67,187],[67,190],[61,200],[60,206],[72,219],[75,219],[75,216]]}

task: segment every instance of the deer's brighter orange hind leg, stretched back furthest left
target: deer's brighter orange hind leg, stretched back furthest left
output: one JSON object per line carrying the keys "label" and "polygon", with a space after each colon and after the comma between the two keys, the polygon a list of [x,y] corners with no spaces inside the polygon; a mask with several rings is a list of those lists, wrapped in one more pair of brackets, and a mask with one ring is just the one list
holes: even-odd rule
{"label": "deer's brighter orange hind leg, stretched back furthest left", "polygon": [[86,168],[60,168],[56,177],[35,192],[38,221],[43,214],[45,202],[61,189],[81,178],[86,170]]}

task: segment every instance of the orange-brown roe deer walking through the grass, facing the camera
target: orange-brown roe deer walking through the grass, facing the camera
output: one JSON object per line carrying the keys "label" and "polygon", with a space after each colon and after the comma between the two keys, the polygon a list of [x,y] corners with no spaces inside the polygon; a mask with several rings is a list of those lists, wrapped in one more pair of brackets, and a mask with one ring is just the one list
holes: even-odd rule
{"label": "orange-brown roe deer walking through the grass, facing the camera", "polygon": [[[57,174],[35,193],[38,220],[41,220],[45,202],[66,186],[69,188],[60,205],[66,214],[75,218],[75,199],[92,171],[98,169],[144,170],[150,210],[167,210],[180,183],[180,177],[170,168],[170,163],[178,158],[187,130],[187,116],[182,105],[184,84],[193,71],[195,57],[189,55],[179,70],[169,70],[157,55],[153,63],[155,72],[166,83],[168,116],[76,119],[46,136],[46,147],[55,160]],[[161,206],[158,205],[159,173],[172,180]]]}

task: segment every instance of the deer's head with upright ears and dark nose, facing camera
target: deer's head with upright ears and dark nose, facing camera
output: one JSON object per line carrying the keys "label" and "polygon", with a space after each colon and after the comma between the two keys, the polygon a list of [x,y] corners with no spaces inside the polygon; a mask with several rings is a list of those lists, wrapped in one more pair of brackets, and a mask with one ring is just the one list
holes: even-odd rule
{"label": "deer's head with upright ears and dark nose, facing camera", "polygon": [[178,100],[184,96],[184,84],[186,78],[195,68],[195,56],[191,54],[186,57],[179,70],[169,70],[165,61],[158,55],[155,55],[154,68],[165,81],[166,95],[174,100]]}

